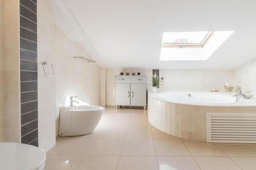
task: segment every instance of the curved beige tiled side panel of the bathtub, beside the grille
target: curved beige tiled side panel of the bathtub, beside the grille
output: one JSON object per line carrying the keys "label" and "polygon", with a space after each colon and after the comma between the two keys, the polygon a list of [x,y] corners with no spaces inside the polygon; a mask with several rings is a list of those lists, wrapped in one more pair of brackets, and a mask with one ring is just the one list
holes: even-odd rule
{"label": "curved beige tiled side panel of the bathtub, beside the grille", "polygon": [[255,106],[214,107],[159,101],[148,93],[148,120],[157,129],[183,139],[206,142],[206,113],[255,113]]}

